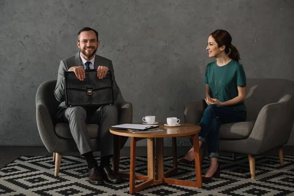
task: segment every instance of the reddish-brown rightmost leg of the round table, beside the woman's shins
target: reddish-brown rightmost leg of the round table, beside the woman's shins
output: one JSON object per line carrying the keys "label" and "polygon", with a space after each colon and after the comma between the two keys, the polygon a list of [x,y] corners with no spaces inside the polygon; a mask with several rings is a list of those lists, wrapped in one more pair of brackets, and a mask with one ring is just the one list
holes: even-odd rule
{"label": "reddish-brown rightmost leg of the round table, beside the woman's shins", "polygon": [[201,164],[199,157],[199,140],[198,133],[193,136],[193,148],[194,148],[194,160],[195,160],[195,173],[196,173],[196,187],[202,187],[202,176],[201,176]]}

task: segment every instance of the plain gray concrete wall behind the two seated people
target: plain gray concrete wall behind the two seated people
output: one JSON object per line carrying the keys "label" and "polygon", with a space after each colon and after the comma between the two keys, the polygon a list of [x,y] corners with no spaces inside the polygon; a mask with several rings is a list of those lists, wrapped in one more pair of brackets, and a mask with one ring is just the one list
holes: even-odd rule
{"label": "plain gray concrete wall behind the two seated people", "polygon": [[294,80],[292,0],[0,0],[0,145],[43,145],[37,87],[78,51],[84,26],[98,30],[97,53],[112,59],[134,122],[184,120],[184,103],[204,97],[207,38],[218,28],[231,33],[247,77]]}

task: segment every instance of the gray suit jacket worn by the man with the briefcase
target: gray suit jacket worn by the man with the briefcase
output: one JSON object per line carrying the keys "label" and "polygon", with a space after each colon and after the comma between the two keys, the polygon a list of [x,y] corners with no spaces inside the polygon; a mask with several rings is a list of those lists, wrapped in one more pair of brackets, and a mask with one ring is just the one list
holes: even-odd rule
{"label": "gray suit jacket worn by the man with the briefcase", "polygon": [[[116,100],[119,95],[119,88],[118,88],[118,85],[115,81],[112,61],[96,54],[94,68],[97,69],[99,65],[103,65],[103,66],[108,67],[109,70],[112,72],[113,97],[114,97],[114,100]],[[59,116],[58,114],[62,114],[66,108],[66,105],[65,105],[65,81],[64,81],[63,75],[64,75],[64,72],[67,72],[73,66],[83,66],[83,62],[82,62],[82,59],[80,57],[79,52],[77,52],[74,56],[71,56],[69,58],[66,58],[66,59],[63,59],[60,61],[60,65],[59,65],[59,69],[58,69],[57,83],[56,83],[56,87],[54,90],[55,98],[59,102],[61,102],[57,108],[57,111],[58,111],[57,116]]]}

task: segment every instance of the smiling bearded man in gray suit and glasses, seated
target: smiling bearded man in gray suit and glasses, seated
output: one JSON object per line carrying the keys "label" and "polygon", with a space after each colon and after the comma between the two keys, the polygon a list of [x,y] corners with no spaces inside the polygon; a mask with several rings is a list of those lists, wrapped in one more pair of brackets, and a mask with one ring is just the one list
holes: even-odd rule
{"label": "smiling bearded man in gray suit and glasses, seated", "polygon": [[[115,81],[111,60],[96,55],[99,47],[98,32],[92,28],[84,27],[77,33],[77,46],[80,51],[72,57],[61,60],[58,70],[57,83],[54,90],[55,98],[60,101],[56,118],[69,123],[73,139],[82,156],[85,157],[89,168],[89,182],[91,184],[108,183],[118,184],[118,178],[109,166],[109,160],[113,156],[113,135],[109,127],[118,123],[118,110],[114,105],[94,107],[66,107],[65,105],[65,81],[64,72],[74,72],[76,78],[84,80],[85,70],[97,69],[99,79],[106,76],[108,70],[112,71],[114,99],[118,98],[119,89]],[[99,124],[100,136],[100,166],[98,166],[91,151],[90,137],[86,123]]]}

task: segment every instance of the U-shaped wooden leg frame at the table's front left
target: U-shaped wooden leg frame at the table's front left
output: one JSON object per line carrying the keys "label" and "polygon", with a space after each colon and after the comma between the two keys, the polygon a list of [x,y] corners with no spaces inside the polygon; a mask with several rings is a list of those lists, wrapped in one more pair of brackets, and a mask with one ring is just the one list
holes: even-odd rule
{"label": "U-shaped wooden leg frame at the table's front left", "polygon": [[131,137],[131,159],[130,159],[130,194],[134,194],[142,189],[145,189],[147,186],[153,184],[155,176],[155,164],[154,164],[154,151],[153,151],[153,138],[147,139],[147,181],[135,185],[135,165],[136,165],[136,140],[134,137]]}

